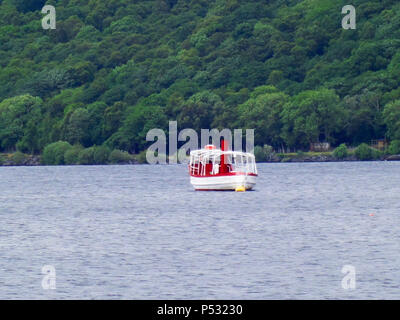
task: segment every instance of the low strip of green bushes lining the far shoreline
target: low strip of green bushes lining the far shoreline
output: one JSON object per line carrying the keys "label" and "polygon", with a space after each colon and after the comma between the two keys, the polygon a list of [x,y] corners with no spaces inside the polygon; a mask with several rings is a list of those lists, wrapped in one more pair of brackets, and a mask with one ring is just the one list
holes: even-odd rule
{"label": "low strip of green bushes lining the far shoreline", "polygon": [[[341,162],[341,161],[400,161],[400,154],[391,148],[378,150],[361,144],[357,148],[347,148],[344,144],[327,152],[276,153],[271,146],[256,146],[257,162]],[[41,155],[0,153],[0,166],[40,166],[40,165],[123,165],[146,164],[146,151],[130,154],[121,150],[104,147],[83,148],[71,146],[63,141],[56,142],[45,149]]]}

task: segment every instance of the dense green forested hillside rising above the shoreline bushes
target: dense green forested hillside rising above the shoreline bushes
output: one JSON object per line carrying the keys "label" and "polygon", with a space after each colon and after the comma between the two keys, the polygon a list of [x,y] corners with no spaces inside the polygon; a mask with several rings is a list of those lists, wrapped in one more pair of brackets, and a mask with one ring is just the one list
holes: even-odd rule
{"label": "dense green forested hillside rising above the shoreline bushes", "polygon": [[348,2],[0,0],[0,152],[138,153],[169,120],[274,148],[400,139],[400,2],[353,0],[344,30]]}

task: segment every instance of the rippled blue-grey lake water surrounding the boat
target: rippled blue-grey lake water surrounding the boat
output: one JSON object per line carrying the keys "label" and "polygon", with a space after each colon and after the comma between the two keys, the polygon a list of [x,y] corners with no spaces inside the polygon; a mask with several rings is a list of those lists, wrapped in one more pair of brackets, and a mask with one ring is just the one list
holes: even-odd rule
{"label": "rippled blue-grey lake water surrounding the boat", "polygon": [[235,193],[184,165],[0,167],[0,299],[400,298],[400,163],[258,169]]}

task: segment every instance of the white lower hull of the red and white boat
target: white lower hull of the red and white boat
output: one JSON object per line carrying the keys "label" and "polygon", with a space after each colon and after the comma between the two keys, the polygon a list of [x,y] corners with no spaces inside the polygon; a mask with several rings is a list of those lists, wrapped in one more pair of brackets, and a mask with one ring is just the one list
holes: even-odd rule
{"label": "white lower hull of the red and white boat", "polygon": [[245,187],[251,190],[256,184],[255,175],[220,175],[207,177],[190,177],[190,183],[198,191],[222,191],[235,190],[238,187]]}

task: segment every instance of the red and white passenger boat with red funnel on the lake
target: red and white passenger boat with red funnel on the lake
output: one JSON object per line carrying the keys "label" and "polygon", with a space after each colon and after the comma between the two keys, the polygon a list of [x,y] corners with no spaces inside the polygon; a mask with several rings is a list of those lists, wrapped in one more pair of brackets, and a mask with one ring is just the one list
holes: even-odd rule
{"label": "red and white passenger boat with red funnel on the lake", "polygon": [[206,145],[190,152],[190,183],[195,190],[251,190],[257,177],[254,155],[228,151],[227,141],[221,145],[221,149]]}

